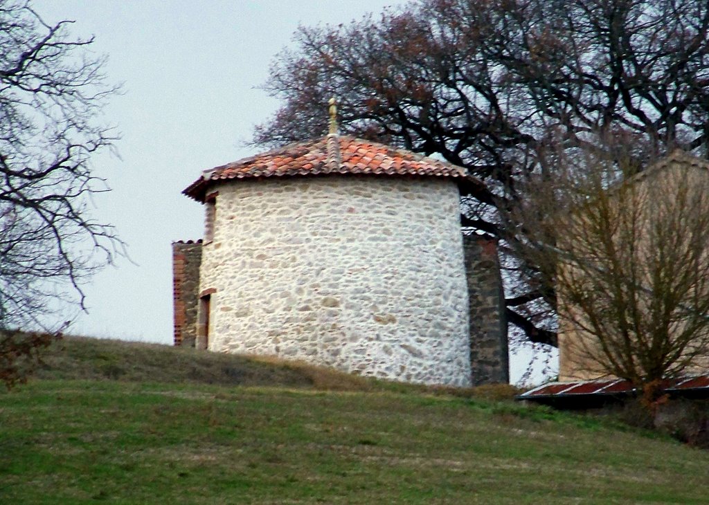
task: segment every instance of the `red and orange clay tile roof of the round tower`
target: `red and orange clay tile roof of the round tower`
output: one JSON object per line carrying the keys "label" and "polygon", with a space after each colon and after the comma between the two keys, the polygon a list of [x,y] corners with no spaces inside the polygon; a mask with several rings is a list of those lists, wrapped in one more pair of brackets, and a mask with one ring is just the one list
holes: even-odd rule
{"label": "red and orange clay tile roof of the round tower", "polygon": [[204,171],[202,176],[182,193],[195,200],[203,201],[208,186],[219,181],[319,174],[469,178],[464,168],[445,161],[354,137],[328,135],[289,144]]}

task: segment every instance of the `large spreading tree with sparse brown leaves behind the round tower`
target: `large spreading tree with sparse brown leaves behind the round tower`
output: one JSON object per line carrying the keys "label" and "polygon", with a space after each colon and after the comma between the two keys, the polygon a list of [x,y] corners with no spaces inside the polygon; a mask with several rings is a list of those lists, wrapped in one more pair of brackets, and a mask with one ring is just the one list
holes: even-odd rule
{"label": "large spreading tree with sparse brown leaves behind the round tower", "polygon": [[589,132],[640,137],[638,170],[675,147],[705,155],[708,29],[700,0],[421,0],[301,28],[265,86],[283,106],[255,141],[325,132],[336,96],[347,134],[465,166],[485,184],[465,188],[462,224],[503,241],[508,319],[556,345],[554,287],[515,253],[524,223],[501,215],[550,136],[568,149],[605,149]]}

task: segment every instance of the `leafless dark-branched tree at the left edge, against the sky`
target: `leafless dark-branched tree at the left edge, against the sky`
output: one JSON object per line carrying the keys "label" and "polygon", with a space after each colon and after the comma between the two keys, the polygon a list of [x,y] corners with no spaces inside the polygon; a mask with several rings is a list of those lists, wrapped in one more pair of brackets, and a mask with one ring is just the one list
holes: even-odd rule
{"label": "leafless dark-branched tree at the left edge, against the sky", "polygon": [[[48,24],[29,1],[0,0],[0,380],[45,345],[16,329],[57,331],[65,302],[83,307],[82,282],[120,245],[89,216],[105,184],[89,157],[111,146],[101,108],[104,59],[71,21]],[[30,345],[26,345],[30,343]]]}

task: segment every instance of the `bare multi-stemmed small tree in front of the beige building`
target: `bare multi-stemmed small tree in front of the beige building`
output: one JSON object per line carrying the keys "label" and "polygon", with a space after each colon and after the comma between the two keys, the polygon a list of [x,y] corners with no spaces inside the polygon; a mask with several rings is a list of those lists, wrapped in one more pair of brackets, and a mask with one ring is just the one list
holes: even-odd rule
{"label": "bare multi-stemmed small tree in front of the beige building", "polygon": [[709,165],[675,152],[638,174],[615,144],[550,153],[515,210],[518,254],[556,285],[560,373],[652,396],[709,363]]}

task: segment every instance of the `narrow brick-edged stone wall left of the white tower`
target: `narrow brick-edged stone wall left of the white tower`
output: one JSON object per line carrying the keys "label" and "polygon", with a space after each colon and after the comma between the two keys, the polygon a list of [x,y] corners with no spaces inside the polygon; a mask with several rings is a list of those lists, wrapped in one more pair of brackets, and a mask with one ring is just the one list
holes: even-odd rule
{"label": "narrow brick-edged stone wall left of the white tower", "polygon": [[174,345],[194,347],[202,241],[172,244]]}

